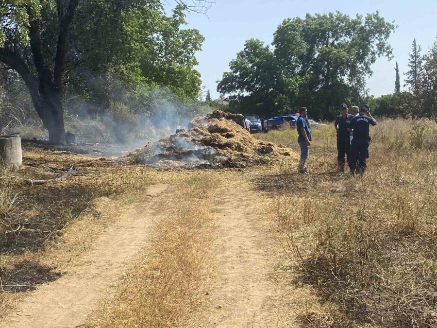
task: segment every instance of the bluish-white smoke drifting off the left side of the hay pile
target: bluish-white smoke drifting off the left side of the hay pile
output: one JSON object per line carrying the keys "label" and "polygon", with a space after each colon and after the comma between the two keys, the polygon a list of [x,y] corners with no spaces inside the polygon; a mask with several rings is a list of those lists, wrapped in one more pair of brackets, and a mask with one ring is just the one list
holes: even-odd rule
{"label": "bluish-white smoke drifting off the left side of the hay pile", "polygon": [[[88,148],[95,155],[121,155],[148,141],[168,137],[178,129],[186,129],[202,109],[195,102],[178,101],[167,87],[131,89],[105,75],[81,74],[87,75],[88,89],[100,94],[93,101],[67,91],[65,108],[69,121],[75,124],[66,122],[66,127],[79,144],[91,143]],[[95,122],[92,129],[88,126],[91,121]],[[180,146],[184,148],[182,142]],[[185,148],[195,150],[188,145]]]}

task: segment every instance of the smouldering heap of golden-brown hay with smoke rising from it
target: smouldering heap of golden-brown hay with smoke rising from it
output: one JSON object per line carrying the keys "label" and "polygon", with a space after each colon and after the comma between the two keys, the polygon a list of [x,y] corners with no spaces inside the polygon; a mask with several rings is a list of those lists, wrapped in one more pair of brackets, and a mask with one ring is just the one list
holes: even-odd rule
{"label": "smouldering heap of golden-brown hay with smoke rising from it", "polygon": [[232,120],[232,114],[219,110],[195,117],[190,127],[156,143],[149,142],[127,154],[124,161],[160,168],[243,168],[292,152],[253,138]]}

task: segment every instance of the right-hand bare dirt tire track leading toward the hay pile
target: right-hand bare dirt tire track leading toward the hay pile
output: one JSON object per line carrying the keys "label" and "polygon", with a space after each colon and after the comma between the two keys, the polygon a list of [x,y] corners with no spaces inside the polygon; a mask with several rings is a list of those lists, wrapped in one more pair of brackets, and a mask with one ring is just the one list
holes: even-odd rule
{"label": "right-hand bare dirt tire track leading toward the hay pile", "polygon": [[208,292],[210,309],[200,327],[295,326],[281,286],[271,279],[283,250],[257,226],[258,199],[244,182],[228,187],[218,199],[217,282]]}

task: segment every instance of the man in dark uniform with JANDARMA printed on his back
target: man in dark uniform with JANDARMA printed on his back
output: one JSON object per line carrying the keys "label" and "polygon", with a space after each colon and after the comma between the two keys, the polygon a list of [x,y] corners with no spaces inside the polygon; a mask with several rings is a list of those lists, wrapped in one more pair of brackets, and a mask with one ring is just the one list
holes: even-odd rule
{"label": "man in dark uniform with JANDARMA printed on his back", "polygon": [[376,121],[370,115],[369,105],[362,104],[360,113],[352,118],[348,126],[348,130],[353,131],[349,154],[349,168],[351,169],[351,174],[363,174],[364,171],[366,171],[366,159],[369,158],[370,125],[376,125]]}

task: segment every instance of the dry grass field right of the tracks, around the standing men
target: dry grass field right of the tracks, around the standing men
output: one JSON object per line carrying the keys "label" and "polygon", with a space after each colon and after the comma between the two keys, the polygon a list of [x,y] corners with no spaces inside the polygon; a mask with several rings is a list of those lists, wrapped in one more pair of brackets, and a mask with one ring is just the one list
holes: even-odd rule
{"label": "dry grass field right of the tracks, around the standing men", "polygon": [[[387,120],[371,135],[364,177],[336,172],[328,126],[314,131],[311,174],[284,162],[261,179],[290,280],[317,296],[304,327],[437,325],[437,127]],[[259,138],[297,148],[295,131]]]}

